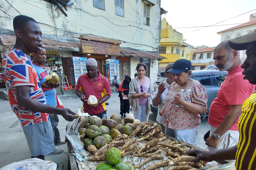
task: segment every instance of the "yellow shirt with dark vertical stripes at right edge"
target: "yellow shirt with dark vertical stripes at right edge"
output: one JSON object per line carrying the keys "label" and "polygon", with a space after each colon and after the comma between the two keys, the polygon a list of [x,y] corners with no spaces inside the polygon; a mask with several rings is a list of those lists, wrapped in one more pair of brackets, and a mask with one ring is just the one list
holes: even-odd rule
{"label": "yellow shirt with dark vertical stripes at right edge", "polygon": [[243,103],[238,122],[239,141],[236,152],[236,169],[256,169],[256,91]]}

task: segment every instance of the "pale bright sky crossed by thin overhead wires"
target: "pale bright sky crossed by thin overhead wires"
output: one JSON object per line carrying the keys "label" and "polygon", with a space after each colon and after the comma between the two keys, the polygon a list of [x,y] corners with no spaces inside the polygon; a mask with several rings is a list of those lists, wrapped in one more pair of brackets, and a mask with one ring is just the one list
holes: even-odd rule
{"label": "pale bright sky crossed by thin overhead wires", "polygon": [[[161,7],[168,11],[162,15],[162,19],[166,18],[173,29],[182,33],[186,43],[195,47],[201,45],[212,47],[220,43],[221,36],[217,32],[249,22],[250,14],[256,13],[256,0],[161,0]],[[226,26],[214,26],[203,29],[199,27],[213,24]]]}

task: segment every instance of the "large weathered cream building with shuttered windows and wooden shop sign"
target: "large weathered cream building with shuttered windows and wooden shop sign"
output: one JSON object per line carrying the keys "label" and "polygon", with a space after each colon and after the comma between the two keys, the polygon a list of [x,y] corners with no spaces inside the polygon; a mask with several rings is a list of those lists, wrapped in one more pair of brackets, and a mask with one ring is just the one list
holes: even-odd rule
{"label": "large weathered cream building with shuttered windows and wooden shop sign", "polygon": [[[145,62],[148,66],[146,76],[152,81],[157,79],[158,60],[164,58],[158,55],[161,14],[167,12],[160,9],[160,0],[72,0],[67,6],[58,8],[46,1],[20,0],[11,5],[0,2],[1,57],[15,42],[13,18],[22,14],[39,22],[47,57],[60,60],[47,67],[57,66],[72,86],[75,85],[73,56],[95,58],[104,76],[105,60],[118,59],[120,81],[124,75],[133,78],[137,63]],[[93,50],[95,42],[109,44],[108,51],[112,51]]]}

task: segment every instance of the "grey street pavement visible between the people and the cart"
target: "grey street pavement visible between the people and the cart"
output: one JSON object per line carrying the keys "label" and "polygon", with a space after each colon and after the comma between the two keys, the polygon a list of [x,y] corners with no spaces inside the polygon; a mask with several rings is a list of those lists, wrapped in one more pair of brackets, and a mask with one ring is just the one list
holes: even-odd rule
{"label": "grey street pavement visible between the people and the cart", "polygon": [[[110,99],[107,101],[110,105],[106,105],[107,117],[114,113],[119,115],[120,113],[120,100],[117,93],[112,93]],[[63,106],[75,111],[82,108],[82,102],[80,98],[63,99]],[[20,122],[14,112],[11,109],[9,101],[0,99],[0,168],[8,165],[12,162],[17,162],[31,157],[28,144],[23,133],[23,129]],[[152,112],[149,115],[149,120],[155,121],[156,114]],[[207,123],[207,118],[201,120],[202,123],[199,126],[199,134],[197,136],[196,146],[203,149],[206,148],[205,141],[203,139],[204,134],[210,129],[210,125]],[[65,139],[65,128],[67,121],[59,116],[59,131],[61,139]],[[57,170],[67,170],[68,153],[67,144],[57,145],[64,149],[64,152],[60,154],[48,154],[45,155],[45,160],[51,160],[59,165]]]}

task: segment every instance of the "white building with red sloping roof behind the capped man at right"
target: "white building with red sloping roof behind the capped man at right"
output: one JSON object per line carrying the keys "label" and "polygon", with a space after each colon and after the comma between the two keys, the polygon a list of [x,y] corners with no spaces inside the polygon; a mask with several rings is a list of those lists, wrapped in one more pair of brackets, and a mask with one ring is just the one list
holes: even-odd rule
{"label": "white building with red sloping roof behind the capped man at right", "polygon": [[[250,15],[249,22],[220,31],[217,34],[221,36],[220,42],[223,42],[224,40],[230,40],[236,37],[250,34],[255,29],[256,29],[256,13]],[[245,51],[246,50],[240,51],[240,58],[242,59],[242,61],[244,61],[246,58]]]}

